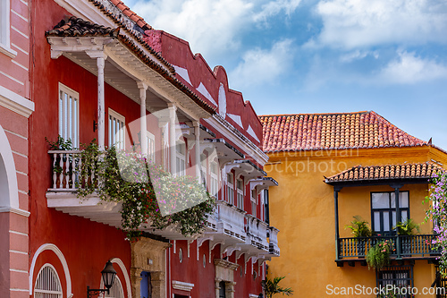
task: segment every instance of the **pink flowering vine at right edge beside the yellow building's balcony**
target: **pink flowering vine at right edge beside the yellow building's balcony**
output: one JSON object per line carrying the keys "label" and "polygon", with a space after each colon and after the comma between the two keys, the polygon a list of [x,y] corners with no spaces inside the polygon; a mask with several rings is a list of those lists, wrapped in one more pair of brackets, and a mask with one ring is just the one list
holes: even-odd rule
{"label": "pink flowering vine at right edge beside the yellow building's balcony", "polygon": [[433,249],[441,251],[439,267],[443,275],[447,269],[447,173],[438,172],[432,176],[430,194],[426,202],[430,202],[426,210],[426,221],[434,223],[434,233],[438,234],[432,244]]}

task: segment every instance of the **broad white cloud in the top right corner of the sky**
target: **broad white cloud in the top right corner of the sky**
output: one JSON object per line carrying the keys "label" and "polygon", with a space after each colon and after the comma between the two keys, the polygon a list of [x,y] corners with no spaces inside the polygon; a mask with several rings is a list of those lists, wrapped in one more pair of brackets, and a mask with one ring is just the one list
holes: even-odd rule
{"label": "broad white cloud in the top right corner of the sky", "polygon": [[316,13],[324,27],[308,47],[447,43],[444,0],[323,0]]}

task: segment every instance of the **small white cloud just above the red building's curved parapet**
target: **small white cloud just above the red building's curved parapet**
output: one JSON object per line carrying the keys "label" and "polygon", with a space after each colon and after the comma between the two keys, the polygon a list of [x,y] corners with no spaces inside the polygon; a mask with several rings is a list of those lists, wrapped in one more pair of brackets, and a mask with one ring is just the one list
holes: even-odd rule
{"label": "small white cloud just above the red building's curved parapet", "polygon": [[291,39],[284,39],[276,42],[271,49],[256,48],[246,52],[243,62],[231,72],[232,85],[240,88],[273,82],[291,65],[291,44]]}

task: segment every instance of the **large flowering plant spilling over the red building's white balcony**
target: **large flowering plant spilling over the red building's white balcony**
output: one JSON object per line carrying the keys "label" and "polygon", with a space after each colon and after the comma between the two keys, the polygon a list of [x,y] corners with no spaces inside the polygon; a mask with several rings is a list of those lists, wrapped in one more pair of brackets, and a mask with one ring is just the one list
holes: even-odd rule
{"label": "large flowering plant spilling over the red building's white balcony", "polygon": [[114,147],[99,151],[91,142],[80,157],[78,196],[96,192],[101,200],[121,202],[122,228],[132,241],[148,226],[175,226],[184,235],[201,233],[215,208],[196,178],[171,175],[137,153]]}

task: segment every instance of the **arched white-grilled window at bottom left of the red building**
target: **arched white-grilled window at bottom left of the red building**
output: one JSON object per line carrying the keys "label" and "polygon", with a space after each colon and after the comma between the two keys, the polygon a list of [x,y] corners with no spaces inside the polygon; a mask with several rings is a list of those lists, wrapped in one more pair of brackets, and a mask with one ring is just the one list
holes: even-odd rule
{"label": "arched white-grilled window at bottom left of the red building", "polygon": [[61,280],[53,265],[45,264],[38,272],[34,286],[35,298],[62,298]]}

